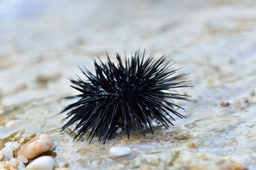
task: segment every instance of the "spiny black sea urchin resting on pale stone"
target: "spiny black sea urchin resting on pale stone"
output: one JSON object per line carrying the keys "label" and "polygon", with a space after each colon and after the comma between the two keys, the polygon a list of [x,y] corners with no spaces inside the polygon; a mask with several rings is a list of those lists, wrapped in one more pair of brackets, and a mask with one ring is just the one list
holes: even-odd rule
{"label": "spiny black sea urchin resting on pale stone", "polygon": [[129,138],[132,122],[144,134],[144,128],[153,133],[150,123],[152,117],[166,128],[171,123],[166,115],[172,120],[174,118],[170,113],[186,118],[174,110],[174,107],[181,107],[169,101],[187,100],[186,95],[171,92],[171,89],[188,86],[183,80],[186,74],[176,74],[177,69],[171,67],[173,64],[166,62],[164,56],[155,60],[152,55],[147,59],[144,55],[145,51],[142,57],[139,52],[135,52],[131,60],[125,57],[124,64],[119,54],[116,54],[118,64],[114,64],[107,55],[107,63],[100,60],[100,64],[97,64],[95,61],[95,74],[80,68],[87,80],[80,77],[77,80],[70,79],[75,84],[72,87],[80,94],[67,97],[79,100],[61,112],[68,111],[67,118],[70,118],[63,130],[77,123],[74,130],[78,130],[78,133],[75,138],[80,140],[90,130],[87,139],[92,140],[97,136],[98,141],[104,144],[112,138],[119,121],[124,123],[124,132]]}

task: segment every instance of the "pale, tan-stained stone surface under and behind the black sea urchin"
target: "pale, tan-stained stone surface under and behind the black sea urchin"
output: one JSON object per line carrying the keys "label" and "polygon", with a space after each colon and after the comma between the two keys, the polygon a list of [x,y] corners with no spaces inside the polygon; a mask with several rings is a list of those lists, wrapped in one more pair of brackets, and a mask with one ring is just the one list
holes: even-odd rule
{"label": "pale, tan-stained stone surface under and behind the black sea urchin", "polygon": [[[252,0],[0,1],[0,149],[21,147],[36,133],[53,137],[56,164],[69,169],[255,169],[256,2]],[[166,55],[184,67],[191,101],[166,130],[154,135],[124,129],[105,145],[87,134],[60,132],[76,94],[68,77],[93,70],[105,52]],[[228,103],[228,104],[227,104]],[[191,145],[193,142],[193,145]],[[109,157],[111,147],[129,147]],[[20,152],[20,150],[19,150]],[[161,161],[159,161],[161,160]],[[122,162],[126,162],[123,164]],[[1,162],[0,164],[3,164]],[[0,166],[1,167],[1,166]]]}

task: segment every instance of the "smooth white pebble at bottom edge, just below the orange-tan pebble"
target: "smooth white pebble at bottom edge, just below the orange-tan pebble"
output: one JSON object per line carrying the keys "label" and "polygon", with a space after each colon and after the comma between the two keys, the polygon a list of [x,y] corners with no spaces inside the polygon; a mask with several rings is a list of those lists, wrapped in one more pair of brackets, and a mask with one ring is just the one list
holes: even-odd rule
{"label": "smooth white pebble at bottom edge, just below the orange-tan pebble", "polygon": [[38,157],[33,160],[28,166],[26,166],[26,170],[53,170],[54,159],[50,156]]}

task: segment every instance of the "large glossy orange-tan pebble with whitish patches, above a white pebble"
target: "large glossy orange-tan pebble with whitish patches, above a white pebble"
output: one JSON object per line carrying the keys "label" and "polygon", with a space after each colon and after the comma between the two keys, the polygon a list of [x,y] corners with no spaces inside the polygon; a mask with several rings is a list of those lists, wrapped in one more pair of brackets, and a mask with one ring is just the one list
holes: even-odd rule
{"label": "large glossy orange-tan pebble with whitish patches, above a white pebble", "polygon": [[38,155],[42,154],[50,150],[53,147],[53,137],[49,135],[37,135],[29,140],[26,145],[23,147],[23,155],[28,158],[32,159],[37,157]]}

